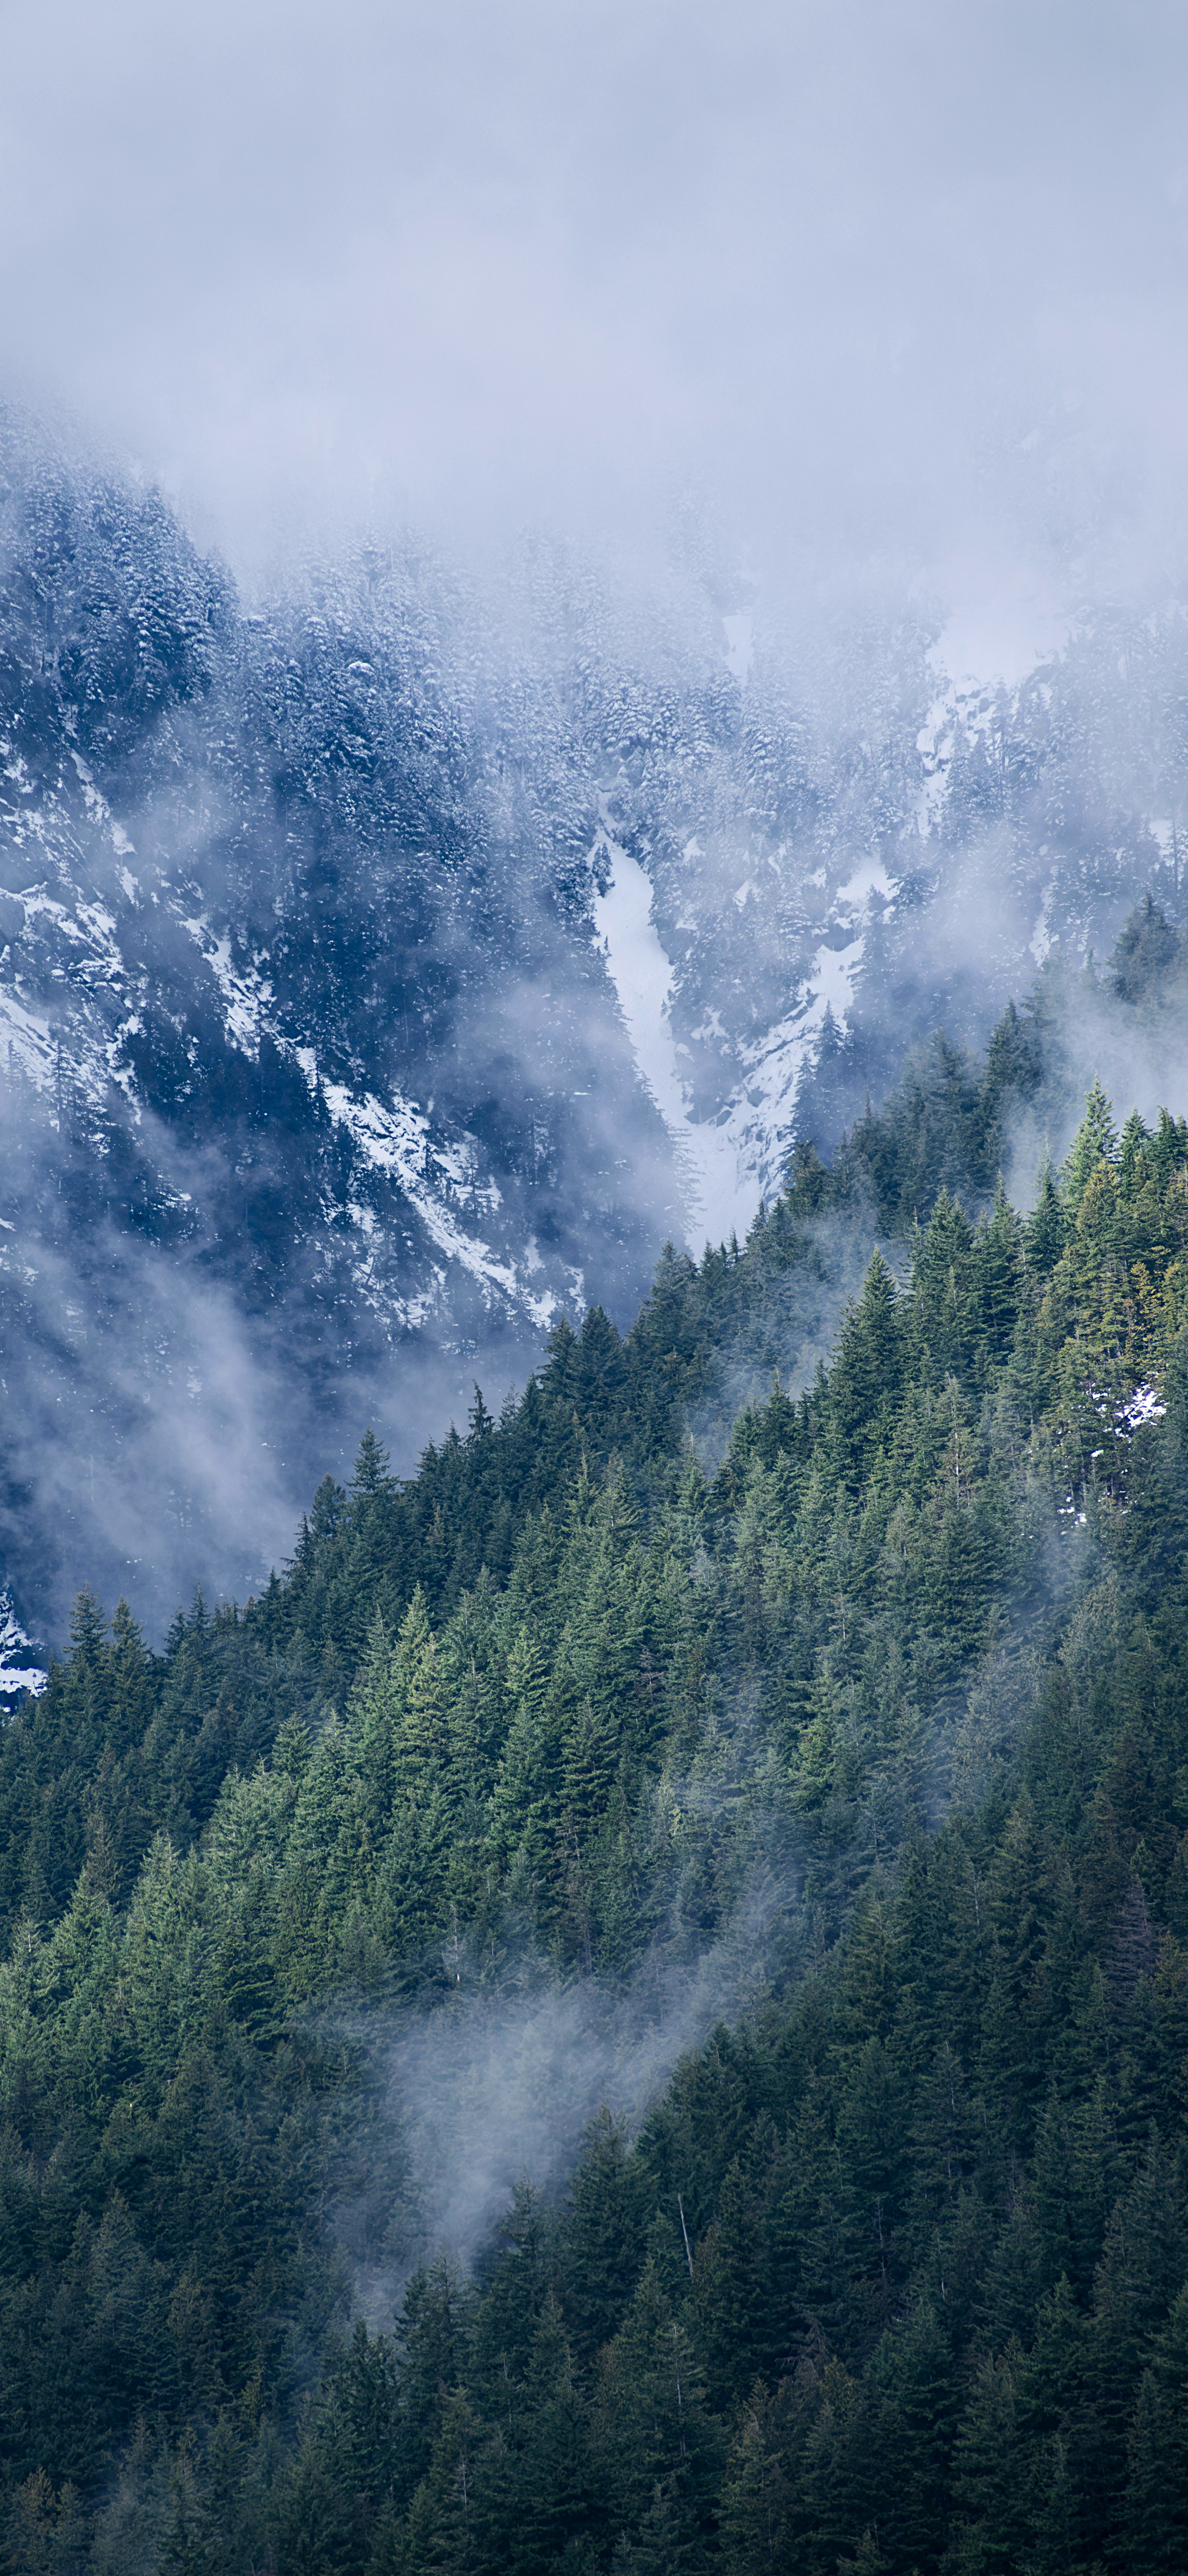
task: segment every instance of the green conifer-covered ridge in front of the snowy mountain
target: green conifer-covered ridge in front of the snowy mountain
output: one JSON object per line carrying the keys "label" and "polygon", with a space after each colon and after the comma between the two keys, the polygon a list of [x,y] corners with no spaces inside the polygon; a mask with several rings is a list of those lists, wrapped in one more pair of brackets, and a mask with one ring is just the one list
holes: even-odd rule
{"label": "green conifer-covered ridge in front of the snowy mountain", "polygon": [[[80,1595],[0,1739],[13,2571],[1183,2566],[1188,1123],[1098,1084],[1020,1218],[1057,1079],[1044,994],[935,1041],[162,1656]],[[716,1950],[639,2133],[417,2262],[392,2027]]]}

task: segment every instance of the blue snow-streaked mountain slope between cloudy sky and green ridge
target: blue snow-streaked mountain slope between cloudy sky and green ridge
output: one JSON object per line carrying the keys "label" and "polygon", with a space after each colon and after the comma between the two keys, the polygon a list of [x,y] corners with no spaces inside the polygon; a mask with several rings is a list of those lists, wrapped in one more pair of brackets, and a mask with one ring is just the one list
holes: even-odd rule
{"label": "blue snow-streaked mountain slope between cloudy sky and green ridge", "polygon": [[0,1574],[237,1589],[366,1419],[402,1463],[750,1224],[941,1018],[1180,858],[1185,631],[1013,696],[559,549],[247,613],[155,492],[8,425]]}

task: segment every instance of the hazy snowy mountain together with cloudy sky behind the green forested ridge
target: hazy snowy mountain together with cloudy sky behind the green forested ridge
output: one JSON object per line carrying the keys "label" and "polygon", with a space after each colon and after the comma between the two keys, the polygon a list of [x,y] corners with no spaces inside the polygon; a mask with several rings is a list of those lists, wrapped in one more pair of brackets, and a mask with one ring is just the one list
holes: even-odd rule
{"label": "hazy snowy mountain together with cloudy sky behind the green forested ridge", "polygon": [[258,1587],[366,1419],[407,1466],[917,1030],[1178,917],[1183,59],[1067,0],[8,13],[26,1623]]}

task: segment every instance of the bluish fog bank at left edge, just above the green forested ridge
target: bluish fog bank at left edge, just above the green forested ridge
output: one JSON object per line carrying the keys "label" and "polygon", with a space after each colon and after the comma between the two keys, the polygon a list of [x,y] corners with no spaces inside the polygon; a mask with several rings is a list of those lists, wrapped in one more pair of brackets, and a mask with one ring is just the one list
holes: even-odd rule
{"label": "bluish fog bank at left edge, just above the green forested ridge", "polygon": [[[291,1311],[250,1314],[196,1242],[39,1224],[13,1177],[21,1159],[52,1170],[54,1136],[3,1072],[0,1136],[18,1208],[0,1221],[0,1566],[54,1646],[80,1584],[108,1607],[124,1592],[155,1643],[198,1587],[247,1600],[291,1556],[317,1481],[348,1481],[369,1422],[405,1471],[451,1414],[464,1422],[459,1358],[420,1347],[350,1373],[302,1350]],[[526,1352],[484,1358],[497,1406]]]}

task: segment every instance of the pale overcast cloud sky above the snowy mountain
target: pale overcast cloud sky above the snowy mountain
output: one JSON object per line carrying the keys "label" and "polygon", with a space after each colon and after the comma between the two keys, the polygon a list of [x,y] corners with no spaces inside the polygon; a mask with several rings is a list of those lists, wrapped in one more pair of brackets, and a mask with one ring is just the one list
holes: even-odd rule
{"label": "pale overcast cloud sky above the snowy mountain", "polygon": [[0,335],[240,564],[291,518],[1180,574],[1188,10],[8,0]]}

